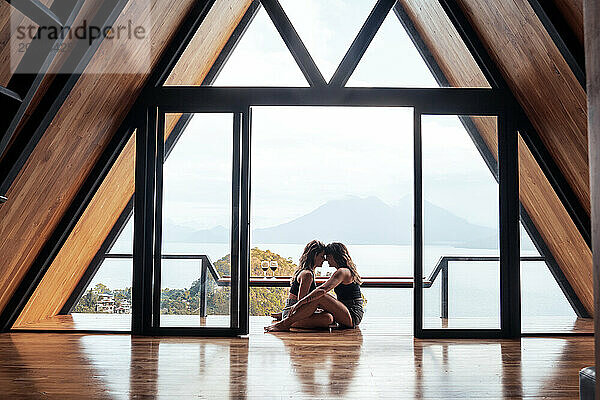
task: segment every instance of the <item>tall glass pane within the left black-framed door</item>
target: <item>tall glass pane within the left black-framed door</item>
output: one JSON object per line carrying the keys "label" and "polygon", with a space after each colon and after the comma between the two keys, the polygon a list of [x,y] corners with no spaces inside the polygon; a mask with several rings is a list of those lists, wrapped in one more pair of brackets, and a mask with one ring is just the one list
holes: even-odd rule
{"label": "tall glass pane within the left black-framed door", "polygon": [[232,135],[232,114],[194,114],[164,163],[161,327],[230,326],[229,286],[201,270],[231,271]]}

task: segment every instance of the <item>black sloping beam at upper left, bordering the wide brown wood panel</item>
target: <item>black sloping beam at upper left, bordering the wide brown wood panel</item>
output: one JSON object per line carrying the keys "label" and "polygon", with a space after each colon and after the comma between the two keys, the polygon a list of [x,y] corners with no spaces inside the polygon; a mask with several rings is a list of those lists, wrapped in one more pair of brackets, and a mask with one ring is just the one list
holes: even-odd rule
{"label": "black sloping beam at upper left, bordering the wide brown wood panel", "polygon": [[[126,4],[127,0],[104,1],[90,24],[102,27],[101,30],[104,31],[105,28],[112,26]],[[0,194],[6,193],[16,179],[103,39],[104,36],[99,35],[90,45],[86,41],[81,41],[73,49],[63,66],[65,71],[71,72],[56,75],[35,111],[14,139],[10,151],[6,152],[1,159]]]}

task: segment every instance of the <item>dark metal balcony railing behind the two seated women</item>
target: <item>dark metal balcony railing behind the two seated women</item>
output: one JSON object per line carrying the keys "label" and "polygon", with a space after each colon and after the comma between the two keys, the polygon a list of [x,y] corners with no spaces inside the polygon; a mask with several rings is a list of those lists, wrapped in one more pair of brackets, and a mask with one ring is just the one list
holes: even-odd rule
{"label": "dark metal balcony railing behind the two seated women", "polygon": [[[132,259],[132,254],[106,254],[105,258],[112,259]],[[207,293],[206,283],[208,274],[213,277],[217,286],[231,286],[231,277],[221,275],[215,268],[210,257],[205,254],[166,254],[162,256],[163,260],[200,260],[200,316],[206,316]],[[448,318],[448,269],[451,262],[482,262],[482,261],[500,261],[500,257],[495,256],[442,256],[439,258],[435,267],[427,278],[423,278],[423,288],[428,289],[433,286],[435,280],[441,273],[441,315],[440,318]],[[544,257],[529,256],[521,257],[521,261],[546,261]],[[325,281],[329,277],[316,276],[316,281]],[[289,287],[291,276],[277,276],[273,278],[264,278],[262,276],[251,276],[249,285],[251,287]],[[412,288],[414,278],[412,276],[363,276],[362,287],[372,288]]]}

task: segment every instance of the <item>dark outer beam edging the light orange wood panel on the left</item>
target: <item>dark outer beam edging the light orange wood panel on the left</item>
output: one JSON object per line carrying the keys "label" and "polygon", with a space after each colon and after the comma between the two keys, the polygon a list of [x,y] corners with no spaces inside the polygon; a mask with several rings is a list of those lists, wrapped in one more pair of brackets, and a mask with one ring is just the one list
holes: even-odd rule
{"label": "dark outer beam edging the light orange wood panel on the left", "polygon": [[[223,49],[221,50],[215,62],[206,74],[206,77],[202,81],[201,86],[210,86],[216,81],[217,77],[219,76],[219,73],[223,69],[223,66],[227,63],[227,60],[229,60],[229,57],[231,56],[238,43],[240,42],[241,38],[244,36],[244,33],[248,30],[248,27],[254,20],[254,17],[256,16],[259,8],[260,2],[258,0],[253,1],[250,4],[248,9],[244,13],[244,16],[237,24],[234,31],[231,33],[229,39],[227,39],[227,43],[225,43],[225,46],[223,46]],[[193,114],[190,113],[182,114],[179,120],[177,121],[177,124],[175,124],[175,127],[169,134],[165,143],[165,160],[169,157],[169,155],[175,148],[175,145],[179,141],[179,138],[181,138],[181,135],[185,131],[185,128],[188,126],[190,120],[192,119],[192,116]],[[92,281],[92,279],[94,279],[94,276],[102,266],[102,262],[106,258],[106,254],[110,251],[118,236],[125,228],[125,225],[127,225],[131,216],[133,215],[133,202],[134,196],[131,197],[131,199],[127,203],[127,206],[119,215],[119,218],[117,219],[108,236],[100,246],[100,249],[98,249],[98,251],[94,255],[94,258],[87,266],[83,276],[77,283],[77,286],[75,287],[65,304],[62,306],[59,314],[70,314],[73,308],[75,308],[75,306],[79,302],[79,299],[81,299],[81,296],[84,295],[85,290],[87,289],[90,282]]]}

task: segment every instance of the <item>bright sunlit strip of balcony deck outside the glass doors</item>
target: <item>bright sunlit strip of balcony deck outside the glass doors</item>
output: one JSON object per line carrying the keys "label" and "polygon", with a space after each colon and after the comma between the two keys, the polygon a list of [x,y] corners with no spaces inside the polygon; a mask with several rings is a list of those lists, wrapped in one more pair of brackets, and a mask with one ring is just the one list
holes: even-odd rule
{"label": "bright sunlit strip of balcony deck outside the glass doors", "polygon": [[[262,321],[263,317],[251,317],[251,324]],[[267,319],[267,321],[269,321]],[[260,322],[262,323],[262,322]],[[259,325],[260,325],[259,323]],[[369,317],[365,314],[363,329],[387,331],[392,324],[393,332],[412,335],[411,318]],[[194,315],[162,315],[161,326],[198,327],[198,326],[229,326],[229,316],[211,315],[200,318]],[[498,321],[484,318],[462,318],[442,320],[441,318],[425,319],[425,328],[498,328]],[[594,322],[589,318],[576,317],[525,317],[523,318],[525,333],[593,333]],[[60,315],[32,324],[22,325],[15,330],[110,330],[128,332],[131,329],[131,314],[72,314]]]}

